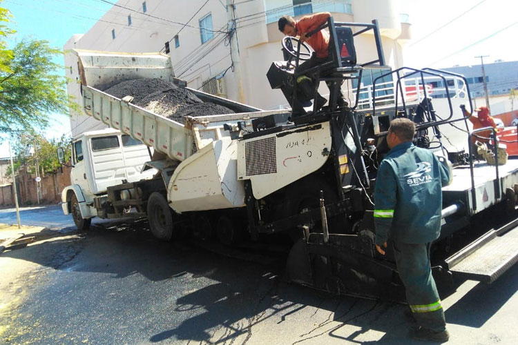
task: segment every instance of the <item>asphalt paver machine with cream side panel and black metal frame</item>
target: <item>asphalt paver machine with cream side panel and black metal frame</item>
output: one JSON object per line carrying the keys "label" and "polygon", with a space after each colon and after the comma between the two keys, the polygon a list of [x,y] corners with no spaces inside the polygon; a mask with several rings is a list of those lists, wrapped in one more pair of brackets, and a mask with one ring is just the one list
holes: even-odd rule
{"label": "asphalt paver machine with cream side panel and black metal frame", "polygon": [[[390,121],[407,117],[416,123],[414,144],[453,164],[452,184],[443,188],[441,237],[432,249],[439,286],[450,286],[453,275],[488,283],[497,279],[518,258],[518,160],[489,165],[471,149],[445,148],[443,128],[463,130],[461,140],[468,147],[480,131],[470,131],[467,118],[455,116],[461,114],[459,102],[472,110],[466,79],[431,68],[390,70],[376,21],[338,23],[331,17],[314,32],[318,30],[329,31],[329,61],[304,72],[314,81],[314,95],[297,87],[302,75],[297,67],[310,54],[297,39],[283,39],[286,61],[272,63],[267,73],[271,87],[280,89],[291,106],[298,103],[308,110],[256,119],[253,131],[238,144],[238,179],[245,182],[252,237],[290,233],[296,240],[287,261],[291,282],[334,293],[403,299],[393,253],[382,257],[375,250],[373,194],[378,164],[389,150],[385,137]],[[354,50],[359,35],[376,44],[376,56],[365,63],[357,61]],[[359,106],[362,75],[374,75],[373,70],[381,72]],[[430,77],[445,86],[440,109],[434,109],[437,99],[427,88]],[[413,99],[405,83],[411,78]],[[448,90],[452,78],[468,88],[464,99]],[[379,86],[387,80],[393,83],[390,91]],[[309,110],[320,81],[353,88],[354,101],[339,108],[334,88],[328,106]],[[496,150],[496,135],[492,141]]]}

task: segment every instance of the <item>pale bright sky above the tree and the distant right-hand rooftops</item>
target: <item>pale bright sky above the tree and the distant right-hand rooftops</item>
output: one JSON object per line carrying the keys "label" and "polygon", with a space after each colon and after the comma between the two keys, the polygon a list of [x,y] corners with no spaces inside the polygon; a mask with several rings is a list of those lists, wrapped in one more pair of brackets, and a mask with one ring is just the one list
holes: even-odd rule
{"label": "pale bright sky above the tree and the distant right-hand rooftops", "polygon": [[[401,1],[401,12],[410,15],[414,40],[405,46],[405,65],[476,65],[477,55],[490,55],[487,63],[518,60],[517,0]],[[11,41],[32,36],[58,48],[73,34],[88,31],[111,7],[101,0],[4,0],[0,6],[14,16],[12,28],[18,32]],[[63,64],[63,59],[56,62]],[[48,136],[69,132],[68,116],[52,115],[50,128]],[[6,147],[5,143],[0,145],[0,157],[8,155]]]}

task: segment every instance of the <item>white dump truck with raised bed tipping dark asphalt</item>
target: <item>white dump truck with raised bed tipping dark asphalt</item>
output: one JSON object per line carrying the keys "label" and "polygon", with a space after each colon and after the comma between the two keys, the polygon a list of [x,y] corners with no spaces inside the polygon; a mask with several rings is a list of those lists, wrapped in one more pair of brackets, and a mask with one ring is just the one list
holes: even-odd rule
{"label": "white dump truck with raised bed tipping dark asphalt", "polygon": [[[73,214],[78,228],[88,228],[92,217],[148,217],[155,237],[171,239],[175,215],[245,206],[236,137],[252,127],[251,119],[284,114],[287,121],[286,112],[262,111],[188,88],[203,101],[235,113],[186,117],[180,124],[99,90],[137,78],[182,86],[166,55],[74,54],[84,112],[114,128],[73,139],[72,185],[62,192],[62,207],[65,214]],[[140,145],[125,146],[135,142]],[[153,148],[153,159],[147,148]],[[199,221],[207,228],[213,219],[202,215]]]}

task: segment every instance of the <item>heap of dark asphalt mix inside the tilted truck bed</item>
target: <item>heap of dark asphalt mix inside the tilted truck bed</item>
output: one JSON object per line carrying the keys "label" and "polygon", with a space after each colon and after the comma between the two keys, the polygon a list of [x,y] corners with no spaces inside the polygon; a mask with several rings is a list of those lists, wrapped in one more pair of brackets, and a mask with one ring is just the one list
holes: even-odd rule
{"label": "heap of dark asphalt mix inside the tilted truck bed", "polygon": [[162,79],[133,79],[104,90],[117,98],[132,96],[131,103],[155,114],[184,123],[185,116],[231,114],[233,110],[204,102],[193,92]]}

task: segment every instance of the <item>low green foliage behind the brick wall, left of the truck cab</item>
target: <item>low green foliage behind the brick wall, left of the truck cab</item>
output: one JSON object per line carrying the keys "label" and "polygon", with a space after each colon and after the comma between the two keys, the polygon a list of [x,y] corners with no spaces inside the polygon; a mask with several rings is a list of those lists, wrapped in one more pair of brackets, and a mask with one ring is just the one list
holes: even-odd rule
{"label": "low green foliage behind the brick wall, left of the truck cab", "polygon": [[[13,148],[16,163],[15,172],[25,169],[30,174],[36,172],[36,162],[39,175],[55,172],[61,166],[57,160],[57,148],[64,148],[65,159],[70,161],[72,146],[70,137],[63,135],[59,139],[46,139],[41,135],[21,135]],[[10,169],[6,175],[10,175]]]}

